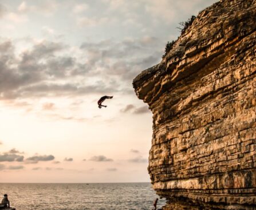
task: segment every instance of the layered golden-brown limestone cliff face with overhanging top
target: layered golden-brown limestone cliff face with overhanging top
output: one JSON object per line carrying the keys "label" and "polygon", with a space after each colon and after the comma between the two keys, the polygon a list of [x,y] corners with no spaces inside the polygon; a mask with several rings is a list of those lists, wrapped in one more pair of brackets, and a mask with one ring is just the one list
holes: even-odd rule
{"label": "layered golden-brown limestone cliff face with overhanging top", "polygon": [[256,1],[199,13],[160,64],[133,81],[153,113],[157,194],[256,204]]}

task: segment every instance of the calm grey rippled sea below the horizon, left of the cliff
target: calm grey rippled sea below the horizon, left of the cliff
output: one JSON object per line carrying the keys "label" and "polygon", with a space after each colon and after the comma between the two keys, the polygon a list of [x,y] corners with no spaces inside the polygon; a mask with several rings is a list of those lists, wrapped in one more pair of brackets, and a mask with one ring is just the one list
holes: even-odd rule
{"label": "calm grey rippled sea below the horizon, left of the cliff", "polygon": [[0,183],[17,210],[151,210],[166,203],[150,183],[11,184]]}

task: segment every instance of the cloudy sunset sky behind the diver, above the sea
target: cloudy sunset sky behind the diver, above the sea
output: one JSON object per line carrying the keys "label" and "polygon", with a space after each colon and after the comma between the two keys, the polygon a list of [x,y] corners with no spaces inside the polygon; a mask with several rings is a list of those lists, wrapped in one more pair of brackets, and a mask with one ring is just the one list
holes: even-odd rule
{"label": "cloudy sunset sky behind the diver, above the sea", "polygon": [[0,182],[150,181],[132,80],[214,2],[0,0]]}

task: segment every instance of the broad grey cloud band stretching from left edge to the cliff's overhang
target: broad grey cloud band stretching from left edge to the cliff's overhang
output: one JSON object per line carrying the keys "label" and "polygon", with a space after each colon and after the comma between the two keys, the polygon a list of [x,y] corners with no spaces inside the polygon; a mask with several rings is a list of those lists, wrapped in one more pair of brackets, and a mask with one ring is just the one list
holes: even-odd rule
{"label": "broad grey cloud band stretching from left edge to the cliff's overhang", "polygon": [[[154,37],[84,42],[78,54],[70,53],[71,48],[61,42],[30,43],[34,44],[17,54],[11,40],[0,39],[0,100],[17,103],[26,98],[134,94],[133,77],[157,62],[153,58],[160,60],[160,54],[149,50],[159,45]],[[54,108],[48,103],[44,110]]]}

